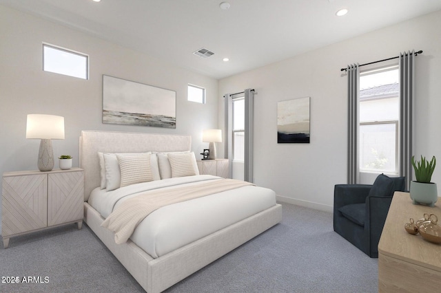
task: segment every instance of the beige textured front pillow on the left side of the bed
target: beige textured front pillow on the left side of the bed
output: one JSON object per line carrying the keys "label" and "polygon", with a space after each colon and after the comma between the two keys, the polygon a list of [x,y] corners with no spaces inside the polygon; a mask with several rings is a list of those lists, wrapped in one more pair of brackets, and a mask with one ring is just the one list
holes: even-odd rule
{"label": "beige textured front pillow on the left side of the bed", "polygon": [[139,155],[116,155],[121,170],[121,187],[153,181],[150,153]]}

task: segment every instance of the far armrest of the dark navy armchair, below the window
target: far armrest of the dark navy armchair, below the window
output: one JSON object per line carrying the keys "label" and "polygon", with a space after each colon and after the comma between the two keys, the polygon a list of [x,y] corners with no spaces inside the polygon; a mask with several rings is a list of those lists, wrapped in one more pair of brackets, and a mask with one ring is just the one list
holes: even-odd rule
{"label": "far armrest of the dark navy armchair, below the window", "polygon": [[334,210],[348,204],[363,204],[372,185],[369,184],[336,184],[334,187]]}

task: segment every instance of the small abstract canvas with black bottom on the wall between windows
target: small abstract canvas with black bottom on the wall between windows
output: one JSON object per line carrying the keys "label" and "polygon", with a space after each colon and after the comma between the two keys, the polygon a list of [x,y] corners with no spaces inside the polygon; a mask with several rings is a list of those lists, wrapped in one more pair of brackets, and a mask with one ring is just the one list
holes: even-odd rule
{"label": "small abstract canvas with black bottom on the wall between windows", "polygon": [[277,142],[309,143],[309,97],[277,103]]}

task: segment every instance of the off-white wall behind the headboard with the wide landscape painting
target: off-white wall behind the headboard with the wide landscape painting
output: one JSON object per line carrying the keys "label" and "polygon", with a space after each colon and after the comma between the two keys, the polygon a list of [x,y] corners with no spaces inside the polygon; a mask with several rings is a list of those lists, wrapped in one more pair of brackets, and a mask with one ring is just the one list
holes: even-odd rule
{"label": "off-white wall behind the headboard with the wide landscape painting", "polygon": [[[0,173],[37,169],[39,140],[25,139],[29,113],[64,116],[65,140],[53,141],[54,156],[70,154],[74,166],[83,129],[192,135],[196,158],[208,148],[202,130],[217,128],[217,80],[4,6],[0,40]],[[42,42],[89,54],[90,80],[43,72]],[[176,129],[103,124],[103,74],[176,91]],[[188,83],[205,87],[205,105],[187,101]]]}

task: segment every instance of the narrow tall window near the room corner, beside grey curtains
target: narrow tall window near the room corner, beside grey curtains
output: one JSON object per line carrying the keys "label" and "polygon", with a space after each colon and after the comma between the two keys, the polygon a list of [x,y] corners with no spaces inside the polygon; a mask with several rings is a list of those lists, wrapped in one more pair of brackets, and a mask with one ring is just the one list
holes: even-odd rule
{"label": "narrow tall window near the room corner, beside grey curtains", "polygon": [[245,161],[245,99],[233,100],[233,160]]}

